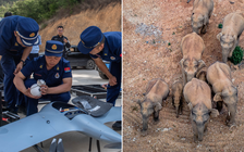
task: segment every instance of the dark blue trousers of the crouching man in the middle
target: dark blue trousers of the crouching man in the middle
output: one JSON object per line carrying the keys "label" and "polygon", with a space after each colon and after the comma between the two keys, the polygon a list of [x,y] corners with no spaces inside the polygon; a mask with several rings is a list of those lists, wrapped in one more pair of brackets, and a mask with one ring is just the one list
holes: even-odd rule
{"label": "dark blue trousers of the crouching man in the middle", "polygon": [[[35,79],[26,79],[25,80],[25,87],[30,88],[32,85],[36,84],[37,81]],[[50,101],[61,101],[68,103],[71,99],[70,92],[59,93],[59,94],[46,94],[42,96],[40,99],[47,99]],[[25,96],[25,104],[26,104],[26,115],[32,115],[38,112],[37,105],[38,105],[38,99],[28,98]]]}

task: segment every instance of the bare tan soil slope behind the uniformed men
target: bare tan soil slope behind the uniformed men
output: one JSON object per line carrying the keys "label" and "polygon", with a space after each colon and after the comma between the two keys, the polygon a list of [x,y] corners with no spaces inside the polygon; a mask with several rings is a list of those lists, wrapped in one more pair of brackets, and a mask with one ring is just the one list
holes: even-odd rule
{"label": "bare tan soil slope behind the uniformed men", "polygon": [[[87,0],[86,0],[87,1]],[[90,3],[90,2],[94,2]],[[98,26],[102,33],[105,31],[121,31],[121,3],[118,0],[102,0],[105,4],[100,4],[96,0],[87,1],[73,8],[74,13],[69,15],[69,10],[60,10],[53,18],[46,21],[40,25],[44,27],[40,30],[41,42],[40,52],[45,51],[47,40],[57,33],[57,27],[64,27],[63,35],[68,37],[71,45],[77,46],[80,35],[88,26]]]}

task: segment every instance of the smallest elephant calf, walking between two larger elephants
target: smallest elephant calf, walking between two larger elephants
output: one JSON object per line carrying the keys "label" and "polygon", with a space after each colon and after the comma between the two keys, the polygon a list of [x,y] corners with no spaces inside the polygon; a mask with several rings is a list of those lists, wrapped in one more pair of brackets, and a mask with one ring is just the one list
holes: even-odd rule
{"label": "smallest elephant calf, walking between two larger elephants", "polygon": [[176,110],[176,117],[179,117],[179,114],[182,114],[183,109],[182,93],[183,93],[183,85],[181,81],[178,80],[172,85],[172,102],[173,106]]}

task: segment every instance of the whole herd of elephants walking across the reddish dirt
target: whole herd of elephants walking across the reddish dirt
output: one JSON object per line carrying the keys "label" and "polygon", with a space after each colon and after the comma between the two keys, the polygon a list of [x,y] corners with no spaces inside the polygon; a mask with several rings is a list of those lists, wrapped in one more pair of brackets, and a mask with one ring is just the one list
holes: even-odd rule
{"label": "whole herd of elephants walking across the reddish dirt", "polygon": [[[244,17],[241,12],[227,14],[222,30],[217,35],[222,48],[222,62],[215,62],[206,67],[202,60],[205,43],[199,34],[206,34],[209,18],[213,10],[213,0],[195,0],[191,16],[193,33],[184,36],[181,41],[182,80],[172,85],[172,102],[176,117],[182,114],[183,102],[191,111],[190,119],[194,140],[202,141],[210,117],[217,117],[222,104],[228,107],[227,125],[235,125],[237,88],[232,83],[228,58],[232,56],[239,38],[244,30]],[[159,121],[162,101],[169,97],[169,86],[160,78],[150,80],[146,87],[145,99],[138,101],[143,116],[142,135],[147,135],[148,117]],[[216,105],[213,109],[212,105]]]}

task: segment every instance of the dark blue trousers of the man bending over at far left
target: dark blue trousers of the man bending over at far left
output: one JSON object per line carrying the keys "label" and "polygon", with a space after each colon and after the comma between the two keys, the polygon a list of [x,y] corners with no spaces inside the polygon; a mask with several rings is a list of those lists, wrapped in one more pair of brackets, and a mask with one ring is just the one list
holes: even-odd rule
{"label": "dark blue trousers of the man bending over at far left", "polygon": [[13,84],[13,72],[16,68],[16,65],[20,63],[21,56],[22,54],[14,55],[8,52],[4,53],[1,59],[2,71],[4,73],[4,100],[8,102],[8,109],[13,110],[14,112],[17,111],[15,104],[17,102],[19,92]]}

